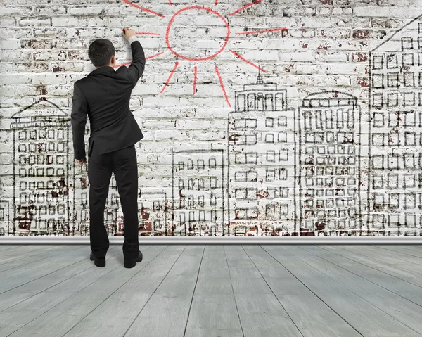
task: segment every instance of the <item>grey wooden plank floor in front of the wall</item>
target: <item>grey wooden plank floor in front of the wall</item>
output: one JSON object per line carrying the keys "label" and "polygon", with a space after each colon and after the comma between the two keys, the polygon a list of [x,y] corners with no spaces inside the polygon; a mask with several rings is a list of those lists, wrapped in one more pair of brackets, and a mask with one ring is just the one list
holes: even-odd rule
{"label": "grey wooden plank floor in front of the wall", "polygon": [[422,336],[422,246],[0,246],[0,336]]}

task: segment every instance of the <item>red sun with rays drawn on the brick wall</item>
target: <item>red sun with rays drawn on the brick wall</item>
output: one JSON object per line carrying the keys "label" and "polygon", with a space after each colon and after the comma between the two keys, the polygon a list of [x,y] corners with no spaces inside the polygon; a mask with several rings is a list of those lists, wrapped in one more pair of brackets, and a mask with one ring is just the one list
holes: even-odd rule
{"label": "red sun with rays drawn on the brick wall", "polygon": [[[157,13],[155,11],[151,11],[151,9],[143,8],[143,7],[141,7],[137,4],[133,4],[129,0],[122,0],[122,1],[125,4],[128,4],[129,6],[133,6],[134,8],[139,9],[140,11],[144,11],[144,12],[150,13],[152,15],[157,15],[160,18],[165,18],[164,15]],[[229,13],[229,16],[234,16],[237,13],[240,13],[241,11],[243,11],[245,8],[249,8],[250,6],[260,4],[262,1],[264,1],[264,0],[252,1],[250,4],[246,4],[245,6],[238,8],[236,11]],[[170,6],[173,6],[172,0],[169,0],[169,4],[170,4]],[[217,6],[217,4],[218,4],[218,0],[215,0],[214,6]],[[213,52],[212,55],[205,55],[205,56],[202,56],[202,57],[198,56],[198,55],[190,55],[188,51],[183,50],[183,45],[178,46],[177,39],[174,39],[174,37],[172,37],[171,33],[174,31],[174,27],[177,26],[177,25],[178,26],[183,25],[183,21],[176,24],[177,20],[181,20],[182,15],[186,15],[186,14],[190,13],[191,11],[194,12],[194,13],[191,13],[194,16],[198,16],[198,15],[203,13],[204,15],[207,15],[208,20],[212,20],[213,23],[217,23],[217,22],[219,23],[218,28],[219,28],[219,32],[221,33],[221,38],[220,38],[221,48],[219,50],[217,50],[215,53]],[[214,25],[214,27],[215,27],[215,25]],[[262,34],[262,33],[265,33],[265,32],[276,32],[276,31],[280,31],[280,30],[283,31],[283,30],[286,30],[286,28],[271,28],[271,29],[257,30],[257,31],[236,32],[235,34],[237,34],[237,35]],[[136,34],[138,34],[138,35],[149,35],[149,36],[160,36],[160,34],[155,33],[155,32],[136,32]],[[174,15],[172,15],[172,18],[170,18],[170,21],[167,25],[166,34],[165,34],[165,44],[167,46],[167,49],[174,56],[176,56],[177,60],[182,59],[182,60],[186,60],[186,61],[193,61],[193,62],[196,62],[196,63],[199,64],[201,62],[210,61],[212,59],[217,58],[217,56],[219,56],[224,51],[229,51],[229,53],[232,53],[236,58],[239,58],[240,60],[244,61],[245,63],[248,63],[252,67],[257,68],[262,72],[265,72],[264,69],[255,65],[255,63],[252,63],[251,61],[247,60],[246,58],[241,56],[241,54],[239,54],[237,51],[234,51],[232,49],[228,49],[227,45],[229,44],[230,37],[231,37],[231,29],[230,29],[229,23],[221,13],[219,13],[215,9],[207,8],[207,7],[203,7],[203,6],[188,6],[188,7],[185,7],[185,8],[181,8],[179,11],[174,13]],[[146,59],[149,60],[151,58],[156,58],[158,56],[161,56],[163,53],[165,53],[165,52],[161,51],[160,53],[157,53],[155,55],[148,56]],[[130,62],[129,63],[122,63],[120,65],[116,65],[115,68],[118,68],[122,65],[128,65],[128,64],[130,64]],[[160,94],[162,94],[165,91],[165,88],[170,83],[170,80],[172,79],[172,76],[174,75],[174,72],[176,72],[178,66],[179,66],[179,62],[176,61],[176,63],[174,64],[173,70],[170,72],[170,75],[167,79],[167,82],[165,82],[164,86],[162,87],[162,89],[160,91]],[[226,102],[231,107],[229,97],[227,96],[226,89],[224,87],[224,82],[222,80],[222,75],[220,74],[219,69],[217,68],[217,65],[215,65],[215,73],[218,77],[219,84],[222,88],[222,92],[224,94],[224,97],[226,98]],[[196,94],[197,77],[198,77],[198,65],[195,65],[194,66],[194,72],[193,72],[193,95]]]}

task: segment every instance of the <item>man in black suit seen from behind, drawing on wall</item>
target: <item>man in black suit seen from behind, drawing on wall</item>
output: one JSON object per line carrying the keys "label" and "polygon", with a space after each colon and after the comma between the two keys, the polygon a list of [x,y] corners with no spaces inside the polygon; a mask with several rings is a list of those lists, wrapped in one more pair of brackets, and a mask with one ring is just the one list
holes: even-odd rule
{"label": "man in black suit seen from behind, drawing on wall", "polygon": [[124,267],[141,262],[138,220],[138,166],[135,146],[143,139],[129,99],[145,67],[145,54],[136,41],[136,32],[123,29],[132,49],[132,64],[114,70],[115,48],[107,39],[97,39],[89,46],[89,58],[96,70],[74,84],[72,98],[72,132],[75,159],[86,162],[84,133],[87,116],[91,124],[88,141],[89,235],[91,261],[106,265],[109,248],[104,227],[104,209],[112,172],[115,174],[124,215]]}

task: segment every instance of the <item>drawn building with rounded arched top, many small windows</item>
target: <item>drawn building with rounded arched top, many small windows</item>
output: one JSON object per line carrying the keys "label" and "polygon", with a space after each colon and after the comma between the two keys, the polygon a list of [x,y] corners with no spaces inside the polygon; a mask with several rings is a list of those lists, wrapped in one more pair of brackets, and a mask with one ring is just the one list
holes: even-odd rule
{"label": "drawn building with rounded arched top, many small windows", "polygon": [[300,224],[317,234],[359,229],[361,110],[337,91],[307,96],[299,109]]}

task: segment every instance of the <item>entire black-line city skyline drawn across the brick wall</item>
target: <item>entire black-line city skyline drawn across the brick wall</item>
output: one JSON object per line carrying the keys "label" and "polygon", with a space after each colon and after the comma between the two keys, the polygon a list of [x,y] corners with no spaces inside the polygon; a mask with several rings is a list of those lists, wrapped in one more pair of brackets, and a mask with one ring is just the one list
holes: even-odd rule
{"label": "entire black-line city skyline drawn across the brick wall", "polygon": [[[235,93],[226,147],[174,152],[171,192],[140,189],[140,235],[420,235],[421,87],[422,16],[370,51],[368,122],[340,91],[289,108],[287,90],[260,73]],[[72,158],[68,113],[42,98],[13,119],[0,235],[87,236],[89,182]],[[114,179],[105,215],[122,236]]]}

